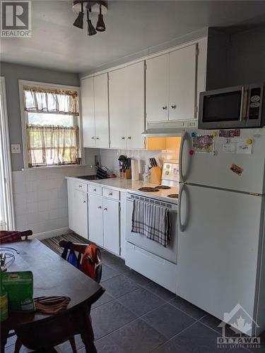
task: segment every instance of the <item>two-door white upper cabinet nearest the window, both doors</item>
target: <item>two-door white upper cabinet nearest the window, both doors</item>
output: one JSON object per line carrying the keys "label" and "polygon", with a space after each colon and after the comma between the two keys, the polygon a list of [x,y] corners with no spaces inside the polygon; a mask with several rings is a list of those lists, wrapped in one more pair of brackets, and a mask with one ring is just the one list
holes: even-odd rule
{"label": "two-door white upper cabinet nearest the window, both doors", "polygon": [[83,146],[109,147],[107,73],[81,83]]}

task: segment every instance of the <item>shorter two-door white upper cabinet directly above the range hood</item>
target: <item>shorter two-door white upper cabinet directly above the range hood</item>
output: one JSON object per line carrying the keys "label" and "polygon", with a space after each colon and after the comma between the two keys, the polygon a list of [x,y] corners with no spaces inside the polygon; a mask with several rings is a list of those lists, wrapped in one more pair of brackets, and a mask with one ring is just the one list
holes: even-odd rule
{"label": "shorter two-door white upper cabinet directly above the range hood", "polygon": [[146,60],[146,120],[196,118],[197,44]]}

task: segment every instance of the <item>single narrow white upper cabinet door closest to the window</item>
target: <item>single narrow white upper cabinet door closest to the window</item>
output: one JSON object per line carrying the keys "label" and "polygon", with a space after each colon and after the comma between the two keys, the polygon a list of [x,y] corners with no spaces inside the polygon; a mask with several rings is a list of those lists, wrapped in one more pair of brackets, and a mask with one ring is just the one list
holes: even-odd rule
{"label": "single narrow white upper cabinet door closest to the window", "polygon": [[94,78],[81,80],[83,147],[95,147]]}

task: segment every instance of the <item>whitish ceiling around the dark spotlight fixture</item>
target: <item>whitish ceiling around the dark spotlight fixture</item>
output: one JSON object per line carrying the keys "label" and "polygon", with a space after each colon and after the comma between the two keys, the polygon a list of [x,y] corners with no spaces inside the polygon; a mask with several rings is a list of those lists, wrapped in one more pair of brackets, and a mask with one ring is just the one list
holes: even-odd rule
{"label": "whitish ceiling around the dark spotlight fixture", "polygon": [[[106,32],[73,27],[71,1],[32,1],[31,38],[1,38],[1,61],[75,73],[174,40],[207,26],[253,22],[265,1],[109,1]],[[96,17],[91,18],[95,25]]]}

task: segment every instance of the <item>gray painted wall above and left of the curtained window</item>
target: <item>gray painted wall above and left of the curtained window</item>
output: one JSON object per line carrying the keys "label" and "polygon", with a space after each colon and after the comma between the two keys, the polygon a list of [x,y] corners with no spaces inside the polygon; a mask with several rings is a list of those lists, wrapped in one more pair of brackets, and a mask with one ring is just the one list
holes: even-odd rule
{"label": "gray painted wall above and left of the curtained window", "polygon": [[52,71],[45,68],[9,64],[5,62],[1,62],[0,75],[4,76],[6,81],[10,143],[19,143],[21,145],[21,153],[11,154],[12,170],[16,171],[24,167],[18,80],[32,80],[74,86],[79,86],[80,80],[76,73]]}

